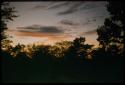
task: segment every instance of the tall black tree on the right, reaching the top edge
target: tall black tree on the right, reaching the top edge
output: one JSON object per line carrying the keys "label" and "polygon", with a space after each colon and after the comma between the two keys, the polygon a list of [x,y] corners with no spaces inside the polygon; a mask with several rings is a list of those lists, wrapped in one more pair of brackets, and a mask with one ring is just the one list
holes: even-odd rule
{"label": "tall black tree on the right, reaching the top edge", "polygon": [[110,13],[110,17],[106,18],[104,25],[97,29],[98,41],[100,46],[108,51],[112,46],[112,50],[123,54],[123,40],[124,40],[124,6],[122,2],[109,1],[107,10]]}

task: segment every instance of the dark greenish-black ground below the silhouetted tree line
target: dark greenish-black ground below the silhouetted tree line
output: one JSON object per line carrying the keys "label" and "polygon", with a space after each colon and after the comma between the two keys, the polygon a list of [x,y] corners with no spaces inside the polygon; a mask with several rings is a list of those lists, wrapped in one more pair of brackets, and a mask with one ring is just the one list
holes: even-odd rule
{"label": "dark greenish-black ground below the silhouetted tree line", "polygon": [[123,63],[3,63],[3,83],[120,83]]}

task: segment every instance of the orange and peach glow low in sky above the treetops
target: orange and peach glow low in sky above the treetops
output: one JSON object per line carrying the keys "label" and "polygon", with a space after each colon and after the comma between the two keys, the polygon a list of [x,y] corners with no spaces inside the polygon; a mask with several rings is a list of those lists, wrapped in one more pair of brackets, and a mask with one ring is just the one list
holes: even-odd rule
{"label": "orange and peach glow low in sky above the treetops", "polygon": [[[34,33],[34,32],[19,32],[19,31],[13,31],[13,30],[7,30],[6,31],[9,35],[13,35],[15,37],[12,38],[13,45],[16,45],[17,43],[21,44],[44,44],[44,45],[53,45],[56,42],[61,41],[73,41],[75,37],[71,35],[66,34],[58,34],[58,33]],[[86,38],[86,44],[93,44],[94,47],[98,46],[98,42],[91,38]]]}

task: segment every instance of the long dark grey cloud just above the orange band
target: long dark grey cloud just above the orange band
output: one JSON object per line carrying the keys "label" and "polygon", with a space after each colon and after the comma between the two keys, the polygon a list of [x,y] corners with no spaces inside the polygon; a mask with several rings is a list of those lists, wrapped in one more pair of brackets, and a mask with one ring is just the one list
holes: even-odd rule
{"label": "long dark grey cloud just above the orange band", "polygon": [[41,26],[41,25],[31,25],[27,27],[17,27],[20,32],[40,32],[40,33],[63,33],[64,30],[61,27],[56,26]]}

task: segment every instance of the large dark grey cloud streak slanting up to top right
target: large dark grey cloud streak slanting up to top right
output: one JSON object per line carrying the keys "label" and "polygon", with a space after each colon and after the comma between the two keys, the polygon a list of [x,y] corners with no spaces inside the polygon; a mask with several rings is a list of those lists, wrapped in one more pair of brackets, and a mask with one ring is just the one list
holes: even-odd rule
{"label": "large dark grey cloud streak slanting up to top right", "polygon": [[59,13],[57,13],[58,15],[66,15],[66,14],[71,14],[71,13],[75,13],[77,11],[81,11],[81,10],[90,10],[93,8],[97,8],[97,7],[103,7],[103,5],[105,4],[104,2],[93,2],[93,1],[78,1],[78,2],[74,2],[74,3],[69,3],[72,4],[71,6],[68,6],[66,10],[61,11]]}

